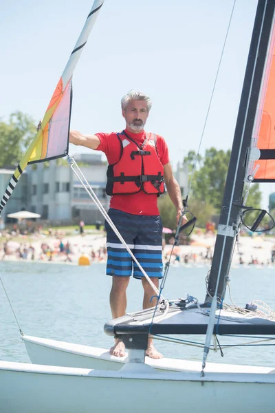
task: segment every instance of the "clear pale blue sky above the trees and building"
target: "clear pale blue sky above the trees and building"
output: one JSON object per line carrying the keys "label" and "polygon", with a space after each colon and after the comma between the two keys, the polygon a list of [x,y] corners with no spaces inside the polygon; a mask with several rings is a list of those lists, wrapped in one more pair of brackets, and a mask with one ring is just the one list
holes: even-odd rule
{"label": "clear pale blue sky above the trees and building", "polygon": [[[2,0],[0,116],[43,117],[92,1]],[[201,145],[230,149],[256,12],[237,0]],[[233,0],[105,0],[74,72],[72,128],[120,131],[120,98],[151,96],[146,129],[166,138],[174,167],[197,150]],[[87,150],[86,150],[87,151]],[[72,146],[70,153],[85,152]],[[263,185],[261,186],[263,190]],[[265,185],[267,193],[274,191]]]}

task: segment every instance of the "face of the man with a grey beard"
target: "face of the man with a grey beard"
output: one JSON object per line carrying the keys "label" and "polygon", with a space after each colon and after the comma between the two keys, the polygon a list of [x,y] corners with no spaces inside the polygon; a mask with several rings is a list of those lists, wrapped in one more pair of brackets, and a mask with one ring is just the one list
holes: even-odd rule
{"label": "face of the man with a grey beard", "polygon": [[135,133],[143,130],[148,114],[144,100],[130,100],[126,109],[122,110],[128,129]]}

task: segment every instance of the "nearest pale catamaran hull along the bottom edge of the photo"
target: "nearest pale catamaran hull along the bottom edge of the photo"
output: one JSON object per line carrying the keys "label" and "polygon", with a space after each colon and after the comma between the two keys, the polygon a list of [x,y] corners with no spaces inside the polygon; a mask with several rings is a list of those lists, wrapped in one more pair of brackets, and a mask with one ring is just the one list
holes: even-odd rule
{"label": "nearest pale catamaran hull along the bottom edge of the photo", "polygon": [[274,413],[274,374],[155,372],[129,364],[120,372],[0,362],[5,413]]}

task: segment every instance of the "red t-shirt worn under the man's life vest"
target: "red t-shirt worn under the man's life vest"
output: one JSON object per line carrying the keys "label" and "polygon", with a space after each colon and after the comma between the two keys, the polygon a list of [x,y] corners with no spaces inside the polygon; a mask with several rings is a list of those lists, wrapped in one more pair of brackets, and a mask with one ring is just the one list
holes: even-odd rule
{"label": "red t-shirt worn under the man's life vest", "polygon": [[[141,131],[140,134],[133,134],[126,129],[126,134],[135,140],[138,145],[141,145],[146,138],[145,131]],[[118,162],[120,160],[121,147],[115,132],[111,132],[111,134],[99,133],[96,136],[100,138],[100,145],[96,150],[105,153],[109,165]],[[162,165],[166,165],[169,162],[168,147],[164,138],[159,135],[157,135],[157,153]],[[155,193],[148,194],[144,191],[131,195],[113,195],[110,200],[110,208],[133,213],[134,215],[159,215],[157,195]]]}

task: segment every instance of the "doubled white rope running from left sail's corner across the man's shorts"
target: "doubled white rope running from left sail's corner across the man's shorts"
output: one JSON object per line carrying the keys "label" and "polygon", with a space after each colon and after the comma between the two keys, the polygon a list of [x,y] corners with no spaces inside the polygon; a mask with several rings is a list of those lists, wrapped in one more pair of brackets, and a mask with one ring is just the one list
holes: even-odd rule
{"label": "doubled white rope running from left sail's corner across the man's shorts", "polygon": [[[131,255],[132,260],[135,262],[135,264],[137,264],[138,268],[140,268],[140,271],[142,272],[142,274],[144,275],[144,277],[148,281],[148,284],[150,284],[151,288],[153,288],[153,290],[155,291],[155,294],[157,295],[157,297],[159,297],[159,299],[162,299],[162,301],[166,302],[166,300],[164,299],[164,297],[162,297],[162,295],[160,294],[157,287],[153,284],[153,282],[151,282],[150,277],[148,277],[148,275],[146,274],[146,272],[144,271],[144,269],[142,268],[140,263],[135,258],[135,255],[133,255],[131,249],[129,248],[129,246],[126,244],[126,242],[124,241],[124,239],[120,235],[120,232],[116,228],[115,224],[113,224],[113,221],[109,217],[108,213],[104,210],[104,207],[102,206],[100,200],[96,196],[96,193],[94,193],[93,189],[91,188],[89,182],[87,181],[87,179],[83,175],[82,171],[80,170],[80,168],[76,164],[76,161],[73,158],[69,157],[69,156],[67,156],[67,161],[69,163],[69,166],[72,168],[72,171],[74,171],[75,175],[77,176],[78,180],[81,182],[81,184],[83,184],[83,187],[85,188],[85,191],[87,191],[87,193],[89,194],[89,197],[95,202],[96,206],[98,207],[98,209],[100,210],[100,212],[104,216],[105,220],[107,220],[107,222],[111,226],[111,229],[113,229],[113,232],[115,233],[115,235],[118,237],[120,242],[124,245],[126,251]],[[80,178],[78,172],[74,169],[74,167],[76,167],[78,169],[78,172],[80,173],[82,178]],[[83,180],[85,181],[85,183],[83,182]]]}

